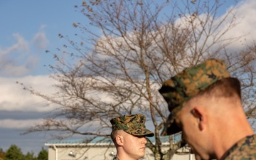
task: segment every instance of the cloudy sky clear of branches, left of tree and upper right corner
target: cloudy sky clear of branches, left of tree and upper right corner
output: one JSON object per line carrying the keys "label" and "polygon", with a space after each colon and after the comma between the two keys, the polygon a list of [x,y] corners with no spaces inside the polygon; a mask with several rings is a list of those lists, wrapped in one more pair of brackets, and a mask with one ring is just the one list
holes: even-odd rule
{"label": "cloudy sky clear of branches, left of tree and upper right corner", "polygon": [[[87,23],[85,17],[75,11],[81,0],[2,0],[0,1],[0,148],[11,144],[22,151],[36,154],[50,138],[46,133],[19,135],[34,122],[40,122],[52,106],[46,106],[39,97],[22,90],[16,81],[50,93],[53,80],[43,65],[53,64],[52,55],[63,41],[58,34],[73,36],[78,32],[74,22]],[[236,6],[240,24],[231,34],[247,35],[247,41],[255,40],[256,1],[247,0]],[[225,13],[225,11],[223,11]],[[235,43],[233,48],[240,47]]]}

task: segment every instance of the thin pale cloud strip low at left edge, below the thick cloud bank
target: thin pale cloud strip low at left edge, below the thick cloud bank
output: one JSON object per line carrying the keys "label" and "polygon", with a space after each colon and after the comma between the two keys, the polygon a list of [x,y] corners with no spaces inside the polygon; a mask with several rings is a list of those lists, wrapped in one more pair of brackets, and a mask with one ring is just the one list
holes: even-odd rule
{"label": "thin pale cloud strip low at left edge, below the thick cloud bank", "polygon": [[43,119],[0,119],[0,128],[25,129],[33,124],[42,123]]}

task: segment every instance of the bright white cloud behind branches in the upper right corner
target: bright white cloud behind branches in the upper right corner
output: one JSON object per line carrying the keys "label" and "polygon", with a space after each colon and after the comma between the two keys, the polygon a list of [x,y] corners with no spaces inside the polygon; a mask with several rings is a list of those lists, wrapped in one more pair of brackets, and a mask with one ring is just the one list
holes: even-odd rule
{"label": "bright white cloud behind branches in the upper right corner", "polygon": [[[252,15],[255,14],[256,1],[253,0],[240,1],[238,5],[230,6],[225,14],[220,17],[215,17],[212,26],[206,25],[206,28],[204,28],[206,29],[206,33],[208,33],[208,31],[214,32],[210,33],[210,37],[208,37],[207,41],[205,34],[201,35],[198,41],[198,48],[201,48],[205,43],[206,46],[211,46],[214,39],[215,41],[218,40],[218,43],[215,43],[215,45],[210,47],[211,52],[214,52],[215,49],[219,49],[220,45],[227,45],[225,46],[225,49],[227,49],[229,53],[239,52],[245,48],[245,45],[251,45],[251,43],[255,41],[256,35],[256,19],[252,17]],[[206,18],[209,18],[207,14],[198,15],[198,18],[195,19],[194,26],[205,21],[210,23]],[[181,25],[181,27],[183,27],[183,25],[189,26],[190,24],[191,23],[188,23],[185,18],[178,18],[176,21],[176,25]],[[211,29],[207,28],[209,26]],[[197,27],[199,31],[203,31],[201,25],[198,25]],[[191,48],[189,48],[188,51],[190,49]]]}

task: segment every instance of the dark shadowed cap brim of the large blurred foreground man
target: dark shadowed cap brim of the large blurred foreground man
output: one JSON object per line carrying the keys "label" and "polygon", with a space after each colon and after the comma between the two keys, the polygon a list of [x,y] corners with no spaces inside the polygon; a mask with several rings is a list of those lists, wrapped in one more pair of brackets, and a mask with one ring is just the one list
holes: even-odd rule
{"label": "dark shadowed cap brim of the large blurred foreground man", "polygon": [[181,132],[181,128],[177,126],[176,122],[174,121],[174,117],[171,114],[169,114],[164,129],[161,132],[161,136],[176,134],[178,132]]}

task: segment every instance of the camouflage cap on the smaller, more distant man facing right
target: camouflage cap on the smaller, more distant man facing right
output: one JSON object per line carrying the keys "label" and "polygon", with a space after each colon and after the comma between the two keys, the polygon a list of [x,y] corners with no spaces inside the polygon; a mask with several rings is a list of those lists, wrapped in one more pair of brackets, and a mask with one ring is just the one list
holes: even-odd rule
{"label": "camouflage cap on the smaller, more distant man facing right", "polygon": [[146,129],[145,121],[144,114],[124,115],[110,120],[112,131],[122,129],[134,136],[153,137],[154,133]]}

